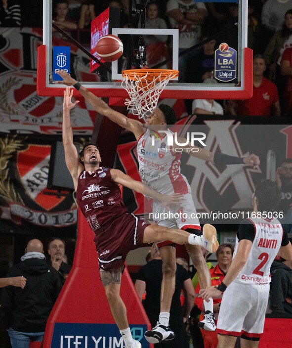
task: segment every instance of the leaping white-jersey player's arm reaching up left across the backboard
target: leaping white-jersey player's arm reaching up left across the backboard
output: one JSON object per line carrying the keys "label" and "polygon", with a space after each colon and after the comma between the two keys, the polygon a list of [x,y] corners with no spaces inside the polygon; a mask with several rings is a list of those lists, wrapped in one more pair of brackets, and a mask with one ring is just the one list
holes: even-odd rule
{"label": "leaping white-jersey player's arm reaching up left across the backboard", "polygon": [[56,81],[56,84],[74,86],[79,90],[79,93],[83,95],[83,97],[92,105],[95,111],[107,117],[111,121],[117,123],[119,126],[125,128],[126,130],[133,132],[137,140],[143,134],[143,125],[141,124],[141,122],[128,119],[125,115],[113,110],[101,98],[89,92],[87,88],[83,87],[78,81],[73,79],[66,71],[58,70],[56,71],[56,73],[63,79],[63,81]]}

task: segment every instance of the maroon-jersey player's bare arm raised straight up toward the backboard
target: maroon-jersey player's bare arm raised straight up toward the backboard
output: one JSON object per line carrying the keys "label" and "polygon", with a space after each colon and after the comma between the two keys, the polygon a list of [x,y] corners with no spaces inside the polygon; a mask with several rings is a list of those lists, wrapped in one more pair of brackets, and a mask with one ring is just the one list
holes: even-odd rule
{"label": "maroon-jersey player's bare arm raised straight up toward the backboard", "polygon": [[78,175],[83,171],[83,166],[79,162],[77,149],[73,143],[73,131],[70,120],[70,110],[74,108],[79,101],[72,102],[73,90],[67,87],[64,90],[63,100],[63,122],[62,122],[62,138],[65,150],[65,161],[67,168],[73,178],[75,190],[77,189]]}

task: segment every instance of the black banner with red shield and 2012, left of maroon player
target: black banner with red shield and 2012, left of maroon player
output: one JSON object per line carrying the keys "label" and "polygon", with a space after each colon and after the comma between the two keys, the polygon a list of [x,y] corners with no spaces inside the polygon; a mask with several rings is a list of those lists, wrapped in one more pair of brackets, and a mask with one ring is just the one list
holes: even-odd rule
{"label": "black banner with red shield and 2012, left of maroon player", "polygon": [[[1,231],[56,233],[62,228],[74,235],[77,209],[72,194],[45,194],[57,194],[46,188],[51,144],[56,140],[55,136],[0,134]],[[81,145],[88,141],[76,140]]]}

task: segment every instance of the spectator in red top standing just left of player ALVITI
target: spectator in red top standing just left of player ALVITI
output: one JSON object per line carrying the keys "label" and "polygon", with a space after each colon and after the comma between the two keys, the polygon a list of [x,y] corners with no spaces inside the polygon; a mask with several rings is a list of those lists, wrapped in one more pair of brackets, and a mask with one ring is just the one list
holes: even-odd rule
{"label": "spectator in red top standing just left of player ALVITI", "polygon": [[[218,286],[222,282],[231,264],[233,251],[234,251],[234,248],[232,244],[225,243],[225,244],[219,245],[219,248],[216,251],[216,257],[217,257],[218,263],[214,268],[210,269],[211,286]],[[200,318],[200,320],[202,320],[202,318],[204,318],[205,308],[204,308],[203,299],[201,297],[198,297],[200,289],[201,289],[200,284],[198,283],[195,290],[195,293],[197,295],[197,297],[195,298],[195,304],[202,311],[201,318]],[[217,322],[221,299],[213,299],[213,303],[214,303],[214,316]],[[201,333],[204,339],[205,348],[217,347],[218,338],[217,338],[216,331],[201,330]]]}

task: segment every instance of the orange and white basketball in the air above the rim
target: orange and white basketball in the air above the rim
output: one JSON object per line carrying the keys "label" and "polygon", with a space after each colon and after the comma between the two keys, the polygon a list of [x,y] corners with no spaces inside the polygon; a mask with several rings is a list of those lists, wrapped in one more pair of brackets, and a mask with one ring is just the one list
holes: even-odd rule
{"label": "orange and white basketball in the air above the rim", "polygon": [[95,46],[98,56],[106,62],[113,62],[121,57],[124,46],[115,35],[105,35],[100,38]]}

